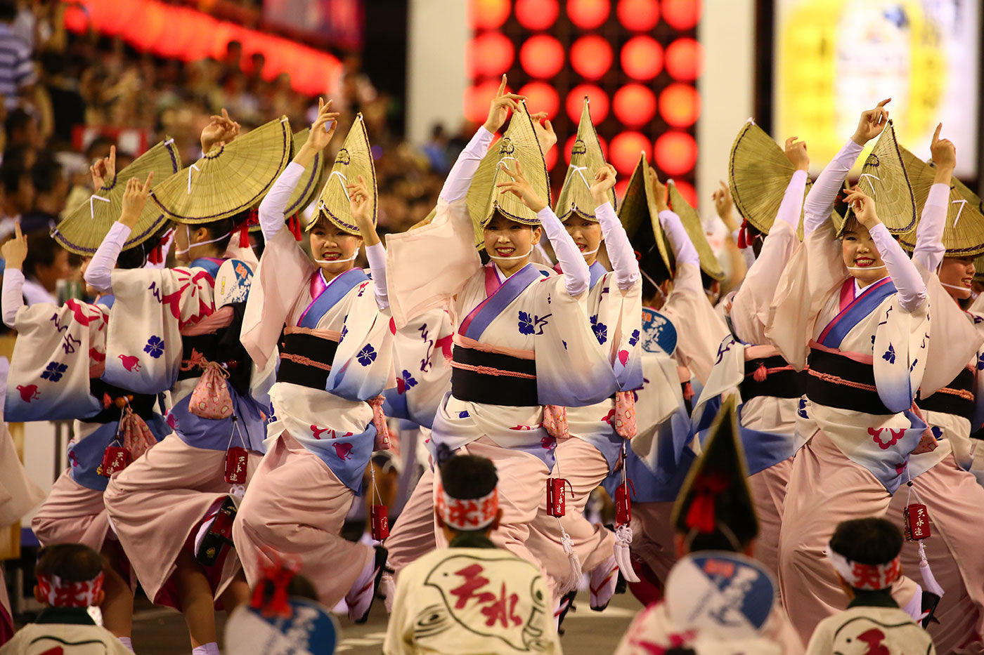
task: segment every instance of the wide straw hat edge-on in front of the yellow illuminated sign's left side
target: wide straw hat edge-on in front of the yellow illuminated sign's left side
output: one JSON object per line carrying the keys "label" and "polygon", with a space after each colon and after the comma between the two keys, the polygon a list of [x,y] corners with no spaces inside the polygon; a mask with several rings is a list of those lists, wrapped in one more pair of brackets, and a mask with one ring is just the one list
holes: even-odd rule
{"label": "wide straw hat edge-on in front of the yellow illuminated sign's left side", "polygon": [[769,234],[795,171],[778,144],[748,119],[731,147],[728,187],[742,217],[763,234]]}

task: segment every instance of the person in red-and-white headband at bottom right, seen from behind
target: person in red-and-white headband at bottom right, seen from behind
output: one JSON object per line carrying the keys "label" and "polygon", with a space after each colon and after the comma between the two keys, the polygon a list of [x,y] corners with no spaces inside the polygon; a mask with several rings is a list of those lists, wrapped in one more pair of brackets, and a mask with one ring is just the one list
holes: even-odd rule
{"label": "person in red-and-white headband at bottom right, seen from behind", "polygon": [[868,653],[936,653],[929,633],[892,599],[892,582],[902,572],[901,550],[901,532],[884,518],[837,525],[827,558],[850,602],[817,625],[807,655],[848,652],[850,644],[865,644]]}

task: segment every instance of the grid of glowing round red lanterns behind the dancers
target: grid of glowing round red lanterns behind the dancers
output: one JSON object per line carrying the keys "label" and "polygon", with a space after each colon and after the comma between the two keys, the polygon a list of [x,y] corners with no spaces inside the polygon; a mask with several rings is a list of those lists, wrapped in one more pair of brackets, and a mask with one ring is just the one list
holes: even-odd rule
{"label": "grid of glowing round red lanterns behind the dancers", "polygon": [[[584,96],[624,189],[641,151],[696,205],[696,88],[701,0],[469,0],[472,85],[465,116],[480,122],[503,73],[545,111],[570,161]],[[548,166],[560,157],[552,153]],[[553,177],[560,184],[563,171]]]}

